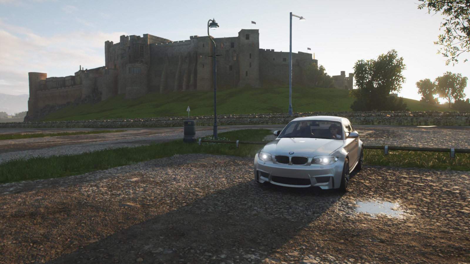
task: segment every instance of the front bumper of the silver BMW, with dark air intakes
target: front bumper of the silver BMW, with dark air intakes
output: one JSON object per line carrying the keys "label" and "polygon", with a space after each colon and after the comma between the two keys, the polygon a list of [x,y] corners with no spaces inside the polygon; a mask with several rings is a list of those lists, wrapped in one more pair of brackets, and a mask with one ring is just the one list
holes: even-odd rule
{"label": "front bumper of the silver BMW, with dark air intakes", "polygon": [[344,160],[338,159],[330,165],[309,166],[276,164],[264,162],[255,156],[255,179],[279,186],[305,188],[318,186],[321,189],[339,188],[343,174]]}

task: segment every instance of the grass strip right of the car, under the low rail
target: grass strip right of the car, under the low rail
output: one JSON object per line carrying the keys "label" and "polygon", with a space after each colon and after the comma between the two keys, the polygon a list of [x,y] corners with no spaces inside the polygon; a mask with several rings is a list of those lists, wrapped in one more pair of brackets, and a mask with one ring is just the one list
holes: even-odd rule
{"label": "grass strip right of the car, under the low rail", "polygon": [[470,154],[456,153],[455,158],[450,158],[449,153],[443,152],[389,151],[389,155],[384,155],[383,150],[364,149],[364,164],[470,171]]}

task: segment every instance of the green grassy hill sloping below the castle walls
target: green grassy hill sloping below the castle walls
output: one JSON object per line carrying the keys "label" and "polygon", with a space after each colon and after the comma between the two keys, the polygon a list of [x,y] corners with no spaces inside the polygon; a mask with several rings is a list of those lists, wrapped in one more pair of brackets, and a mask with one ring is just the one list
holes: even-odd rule
{"label": "green grassy hill sloping below the castle walls", "polygon": [[[412,111],[440,110],[442,106],[404,99]],[[334,88],[292,88],[294,112],[351,111],[354,101],[347,90]],[[69,106],[46,116],[42,121],[89,120],[112,118],[142,118],[157,116],[212,115],[214,93],[211,91],[186,91],[149,93],[141,98],[126,100],[119,95],[97,104]],[[231,88],[217,90],[217,114],[286,113],[289,108],[289,88]]]}

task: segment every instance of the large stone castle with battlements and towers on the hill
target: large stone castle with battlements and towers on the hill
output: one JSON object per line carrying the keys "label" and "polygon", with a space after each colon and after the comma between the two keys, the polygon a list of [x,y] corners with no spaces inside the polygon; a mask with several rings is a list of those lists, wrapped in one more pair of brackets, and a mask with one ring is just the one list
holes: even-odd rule
{"label": "large stone castle with battlements and towers on the hill", "polygon": [[[34,119],[41,109],[69,102],[106,100],[118,94],[136,98],[150,92],[213,89],[213,45],[209,36],[188,40],[143,34],[121,36],[119,43],[104,43],[105,66],[83,69],[75,75],[49,77],[29,72],[28,114]],[[212,37],[211,37],[212,38]],[[217,45],[217,85],[219,87],[259,87],[287,84],[289,52],[259,48],[259,30],[242,29],[237,37],[213,38]],[[303,83],[303,69],[317,60],[312,54],[292,53],[292,82]],[[335,76],[335,86],[347,88],[352,76]],[[348,79],[350,81],[348,81]]]}

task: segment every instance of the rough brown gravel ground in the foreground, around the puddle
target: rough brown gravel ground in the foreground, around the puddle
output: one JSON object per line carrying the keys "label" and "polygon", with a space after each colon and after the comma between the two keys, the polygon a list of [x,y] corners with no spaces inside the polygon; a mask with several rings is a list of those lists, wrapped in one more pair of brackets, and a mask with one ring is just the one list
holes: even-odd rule
{"label": "rough brown gravel ground in the foreground, around the puddle", "polygon": [[3,184],[0,263],[470,262],[468,172],[366,166],[350,184],[260,185],[252,157],[204,154]]}

